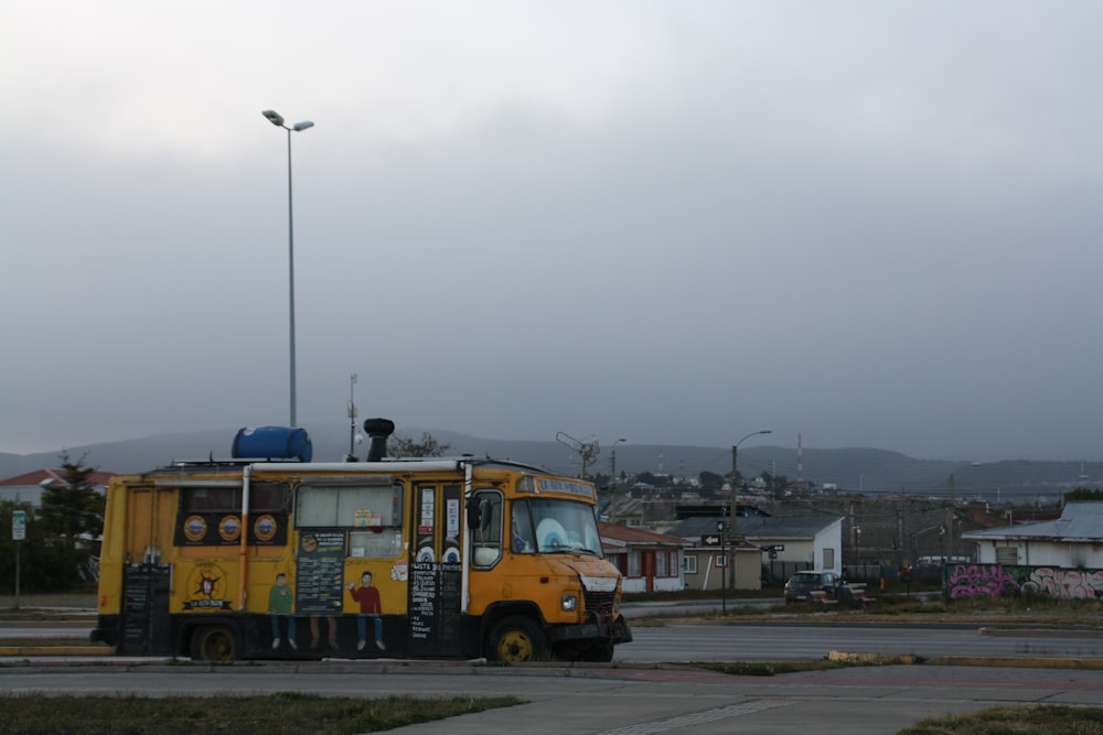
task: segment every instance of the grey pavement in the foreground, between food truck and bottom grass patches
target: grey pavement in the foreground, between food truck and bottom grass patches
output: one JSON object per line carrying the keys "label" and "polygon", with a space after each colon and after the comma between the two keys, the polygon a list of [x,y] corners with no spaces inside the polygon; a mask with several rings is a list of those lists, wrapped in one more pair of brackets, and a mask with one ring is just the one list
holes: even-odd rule
{"label": "grey pavement in the foreground, between food truck and bottom grass patches", "polygon": [[392,731],[453,735],[880,735],[927,716],[1018,702],[1103,706],[1103,671],[885,666],[779,677],[656,667],[425,663],[0,667],[0,694],[502,695],[526,704]]}

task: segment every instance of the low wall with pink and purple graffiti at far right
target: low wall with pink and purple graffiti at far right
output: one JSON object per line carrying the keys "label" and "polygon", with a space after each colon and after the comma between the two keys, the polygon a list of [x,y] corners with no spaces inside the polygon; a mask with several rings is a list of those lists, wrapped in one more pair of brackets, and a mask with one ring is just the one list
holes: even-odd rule
{"label": "low wall with pink and purple graffiti at far right", "polygon": [[1103,598],[1103,570],[954,564],[946,570],[951,599],[1036,594],[1058,599]]}

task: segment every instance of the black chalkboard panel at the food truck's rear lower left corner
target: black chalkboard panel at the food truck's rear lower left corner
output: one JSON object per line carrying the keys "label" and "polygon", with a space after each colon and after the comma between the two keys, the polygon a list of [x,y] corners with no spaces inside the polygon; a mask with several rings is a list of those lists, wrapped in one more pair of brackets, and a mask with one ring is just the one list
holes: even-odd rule
{"label": "black chalkboard panel at the food truck's rear lower left corner", "polygon": [[162,564],[126,568],[120,652],[169,652],[169,575]]}

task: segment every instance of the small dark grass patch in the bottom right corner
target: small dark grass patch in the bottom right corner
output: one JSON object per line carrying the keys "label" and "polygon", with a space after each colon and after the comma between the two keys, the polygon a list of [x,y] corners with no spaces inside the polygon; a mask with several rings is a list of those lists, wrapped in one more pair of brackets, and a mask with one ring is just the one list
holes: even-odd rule
{"label": "small dark grass patch in the bottom right corner", "polygon": [[898,735],[1103,735],[1103,707],[1021,705],[920,720]]}

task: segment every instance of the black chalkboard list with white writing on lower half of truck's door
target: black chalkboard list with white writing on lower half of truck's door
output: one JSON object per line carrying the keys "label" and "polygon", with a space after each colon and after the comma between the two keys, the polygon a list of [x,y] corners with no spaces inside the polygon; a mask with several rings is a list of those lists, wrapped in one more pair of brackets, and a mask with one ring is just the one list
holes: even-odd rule
{"label": "black chalkboard list with white writing on lower half of truck's door", "polygon": [[414,561],[409,576],[410,656],[459,656],[462,566]]}

